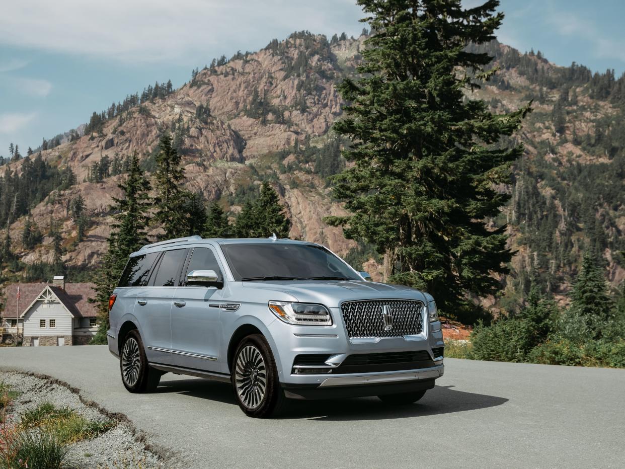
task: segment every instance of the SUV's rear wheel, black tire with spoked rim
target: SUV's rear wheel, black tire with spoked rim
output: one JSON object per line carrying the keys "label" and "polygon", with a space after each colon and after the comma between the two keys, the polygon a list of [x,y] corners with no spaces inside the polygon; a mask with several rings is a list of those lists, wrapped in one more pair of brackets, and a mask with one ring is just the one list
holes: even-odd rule
{"label": "SUV's rear wheel, black tire with spoked rim", "polygon": [[153,391],[161,381],[161,373],[148,365],[148,357],[139,331],[130,331],[119,353],[119,371],[124,387],[131,393]]}

